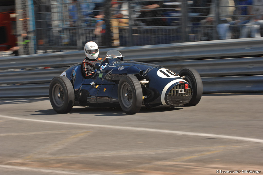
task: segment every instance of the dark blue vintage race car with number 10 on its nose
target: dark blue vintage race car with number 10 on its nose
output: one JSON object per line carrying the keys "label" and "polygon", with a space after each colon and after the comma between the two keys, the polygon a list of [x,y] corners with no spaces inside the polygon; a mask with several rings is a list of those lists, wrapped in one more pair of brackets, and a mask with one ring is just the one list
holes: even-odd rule
{"label": "dark blue vintage race car with number 10 on its nose", "polygon": [[52,79],[49,99],[57,113],[68,113],[74,106],[120,106],[126,114],[138,113],[141,106],[194,106],[203,93],[199,73],[183,69],[179,75],[162,66],[123,61],[119,51],[110,50],[85,79],[81,63]]}

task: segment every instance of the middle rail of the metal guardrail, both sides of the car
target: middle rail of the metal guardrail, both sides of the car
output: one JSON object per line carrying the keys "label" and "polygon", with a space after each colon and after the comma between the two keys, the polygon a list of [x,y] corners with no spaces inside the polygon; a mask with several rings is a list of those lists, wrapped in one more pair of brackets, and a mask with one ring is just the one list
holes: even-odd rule
{"label": "middle rail of the metal guardrail, both sides of the car", "polygon": [[[153,62],[166,67],[176,73],[191,67],[196,69],[202,77],[230,76],[230,75],[263,75],[263,57],[209,59],[189,61]],[[22,71],[0,72],[1,84],[45,83],[59,75],[65,67],[52,69],[36,69]]]}

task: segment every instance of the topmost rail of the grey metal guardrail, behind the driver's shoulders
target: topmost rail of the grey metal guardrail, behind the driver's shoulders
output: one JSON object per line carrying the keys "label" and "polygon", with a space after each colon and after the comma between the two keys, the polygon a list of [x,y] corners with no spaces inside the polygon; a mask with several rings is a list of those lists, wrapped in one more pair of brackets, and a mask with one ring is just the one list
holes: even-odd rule
{"label": "topmost rail of the grey metal guardrail, behind the driver's shoulders", "polygon": [[[199,41],[162,45],[134,46],[100,49],[104,57],[108,50],[118,50],[125,60],[159,62],[190,60],[197,58],[256,55],[263,53],[263,38],[243,38],[232,40]],[[52,54],[22,55],[0,58],[0,70],[35,68],[45,66],[70,66],[82,62],[83,51],[57,52]],[[160,60],[161,59],[161,60]]]}

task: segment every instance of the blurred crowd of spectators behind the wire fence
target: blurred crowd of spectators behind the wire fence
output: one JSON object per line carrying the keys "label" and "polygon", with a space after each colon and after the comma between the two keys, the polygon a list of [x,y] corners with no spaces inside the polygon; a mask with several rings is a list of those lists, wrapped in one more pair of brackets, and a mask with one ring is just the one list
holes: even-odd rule
{"label": "blurred crowd of spectators behind the wire fence", "polygon": [[[141,36],[138,32],[168,35],[165,32],[172,27],[174,30],[168,38],[162,38],[167,43],[263,36],[262,0],[69,1],[65,11],[68,11],[69,19],[66,28],[70,31],[68,42],[64,42],[68,45],[77,45],[74,36],[84,35],[83,42],[96,38],[100,46],[105,46],[110,38],[111,46],[128,46],[129,37]],[[107,33],[109,25],[110,35]],[[156,30],[150,30],[150,27],[156,27]],[[76,28],[93,30],[92,33],[79,33]]]}

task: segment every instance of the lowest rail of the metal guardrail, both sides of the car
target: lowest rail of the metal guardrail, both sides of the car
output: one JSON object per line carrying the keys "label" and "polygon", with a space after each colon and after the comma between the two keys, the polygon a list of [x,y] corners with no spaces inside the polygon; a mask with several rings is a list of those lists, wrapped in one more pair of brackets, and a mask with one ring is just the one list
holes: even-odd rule
{"label": "lowest rail of the metal guardrail, both sides of the car", "polygon": [[[263,75],[203,77],[203,94],[262,93]],[[48,97],[49,84],[0,86],[0,98]]]}

